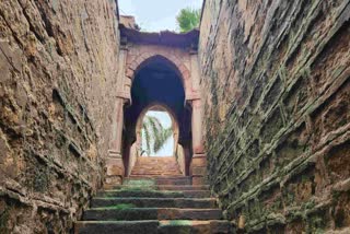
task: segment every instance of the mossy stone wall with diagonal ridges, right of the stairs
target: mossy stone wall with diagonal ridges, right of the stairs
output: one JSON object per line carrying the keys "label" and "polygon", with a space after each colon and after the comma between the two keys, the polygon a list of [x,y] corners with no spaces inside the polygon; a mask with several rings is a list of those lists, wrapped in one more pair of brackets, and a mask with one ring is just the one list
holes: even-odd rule
{"label": "mossy stone wall with diagonal ridges, right of the stairs", "polygon": [[207,0],[209,180],[248,233],[350,232],[350,2]]}

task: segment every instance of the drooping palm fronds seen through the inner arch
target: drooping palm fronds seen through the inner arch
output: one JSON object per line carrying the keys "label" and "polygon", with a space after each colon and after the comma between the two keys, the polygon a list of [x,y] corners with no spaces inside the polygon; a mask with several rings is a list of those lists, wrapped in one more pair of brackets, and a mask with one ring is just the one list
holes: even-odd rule
{"label": "drooping palm fronds seen through the inner arch", "polygon": [[173,128],[164,128],[160,120],[154,116],[145,116],[142,122],[141,134],[144,134],[145,150],[141,150],[141,155],[151,152],[159,152],[167,139],[173,134]]}

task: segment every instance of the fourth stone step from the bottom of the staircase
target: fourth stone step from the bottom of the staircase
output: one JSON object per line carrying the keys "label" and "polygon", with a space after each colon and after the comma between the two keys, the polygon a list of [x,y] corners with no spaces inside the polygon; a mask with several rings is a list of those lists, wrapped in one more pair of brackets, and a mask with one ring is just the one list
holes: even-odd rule
{"label": "fourth stone step from the bottom of the staircase", "polygon": [[151,190],[151,189],[120,189],[97,192],[97,197],[139,197],[139,198],[210,198],[209,190]]}

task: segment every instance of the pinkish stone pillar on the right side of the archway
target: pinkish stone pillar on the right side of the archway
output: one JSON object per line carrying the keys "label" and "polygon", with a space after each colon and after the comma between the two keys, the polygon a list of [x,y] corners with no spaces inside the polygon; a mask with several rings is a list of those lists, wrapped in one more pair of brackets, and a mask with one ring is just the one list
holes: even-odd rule
{"label": "pinkish stone pillar on the right side of the archway", "polygon": [[189,173],[192,177],[194,185],[206,184],[205,177],[207,172],[207,156],[205,153],[202,141],[202,101],[200,95],[200,75],[198,66],[198,55],[196,51],[191,52],[191,126],[192,126],[192,159],[190,162]]}

